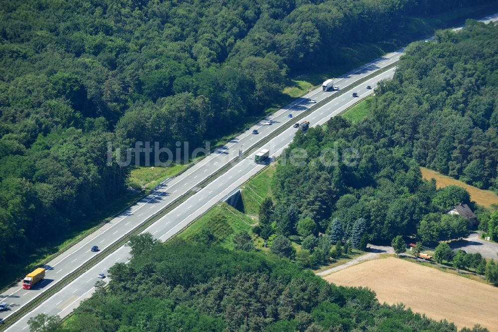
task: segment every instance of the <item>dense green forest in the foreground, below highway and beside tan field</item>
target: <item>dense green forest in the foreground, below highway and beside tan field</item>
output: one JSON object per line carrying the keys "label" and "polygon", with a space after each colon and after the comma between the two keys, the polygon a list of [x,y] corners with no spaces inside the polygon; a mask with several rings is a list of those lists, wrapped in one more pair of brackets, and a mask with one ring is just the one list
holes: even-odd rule
{"label": "dense green forest in the foreground, below highway and beside tan field", "polygon": [[[330,285],[285,259],[178,238],[132,240],[129,264],[81,303],[67,324],[32,318],[31,331],[457,331],[365,288]],[[475,327],[461,331],[484,332]]]}

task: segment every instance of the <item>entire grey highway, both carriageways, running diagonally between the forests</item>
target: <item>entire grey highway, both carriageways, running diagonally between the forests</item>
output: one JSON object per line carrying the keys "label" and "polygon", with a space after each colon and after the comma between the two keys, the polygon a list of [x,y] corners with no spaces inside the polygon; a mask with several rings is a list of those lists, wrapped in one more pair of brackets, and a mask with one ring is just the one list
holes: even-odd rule
{"label": "entire grey highway, both carriageways, running diagonally between the forests", "polygon": [[[358,68],[339,79],[334,80],[334,85],[340,88],[345,88],[355,81],[362,79],[379,68],[385,67],[396,60],[402,53],[393,52],[376,59],[375,61]],[[342,110],[346,109],[361,98],[373,93],[373,89],[367,89],[367,85],[375,86],[380,79],[392,77],[394,69],[387,70],[378,76],[363,83],[361,86],[343,94],[342,96],[333,99],[326,105],[315,110],[309,115],[306,120],[311,122],[311,126],[323,124],[331,117],[337,115]],[[359,94],[358,98],[351,96],[352,92]],[[227,193],[237,188],[240,184],[246,181],[252,174],[256,173],[264,165],[258,165],[253,162],[254,154],[251,154],[245,160],[242,160],[230,168],[226,173],[216,178],[204,188],[198,190],[197,186],[210,174],[227,163],[238,158],[239,150],[248,148],[271,134],[277,128],[285,126],[287,129],[272,139],[262,148],[267,148],[273,157],[278,156],[281,151],[292,141],[296,129],[291,125],[294,123],[292,118],[288,118],[288,114],[298,115],[302,111],[308,109],[313,104],[311,99],[316,99],[317,102],[334,94],[334,91],[321,91],[316,89],[302,98],[294,100],[292,103],[277,111],[265,120],[271,120],[272,125],[264,125],[262,122],[249,128],[249,130],[236,138],[233,138],[227,145],[219,148],[210,156],[203,159],[201,162],[189,168],[180,176],[174,177],[167,183],[159,186],[150,195],[144,197],[136,204],[132,205],[121,215],[115,217],[111,222],[95,231],[78,244],[64,252],[60,256],[54,258],[46,265],[48,269],[45,280],[35,287],[33,290],[23,290],[20,284],[15,285],[0,297],[0,302],[7,302],[9,310],[0,314],[0,319],[5,319],[13,312],[21,308],[24,304],[49,289],[64,276],[76,270],[84,262],[95,255],[90,251],[93,245],[98,245],[101,249],[111,245],[122,235],[138,226],[143,220],[155,214],[166,205],[171,203],[185,192],[190,190],[197,191],[193,196],[189,197],[185,202],[177,206],[154,224],[149,226],[146,231],[161,240],[166,240],[173,234],[181,230],[186,224],[195,219],[198,215],[208,210],[212,205],[217,203]],[[251,131],[257,129],[258,135],[252,135]],[[102,262],[97,264],[89,271],[82,274],[75,281],[66,286],[62,291],[47,299],[43,304],[38,306],[29,315],[26,315],[7,331],[22,331],[27,329],[27,320],[30,317],[45,313],[47,315],[59,315],[61,317],[69,314],[76,308],[80,301],[90,297],[94,284],[97,280],[97,274],[104,272],[116,262],[126,262],[128,260],[128,247],[121,247],[113,254],[106,257]]]}

